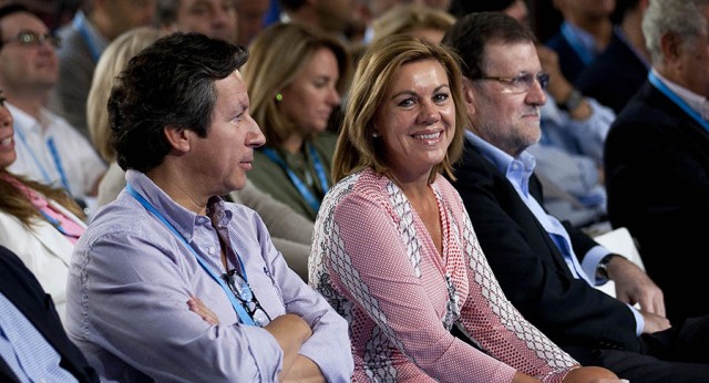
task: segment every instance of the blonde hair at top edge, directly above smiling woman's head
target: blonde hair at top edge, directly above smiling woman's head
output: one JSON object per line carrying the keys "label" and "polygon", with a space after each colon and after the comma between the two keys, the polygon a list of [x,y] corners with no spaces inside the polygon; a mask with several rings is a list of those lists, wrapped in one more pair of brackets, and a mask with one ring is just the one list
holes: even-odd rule
{"label": "blonde hair at top edge, directly above smiling woman's head", "polygon": [[388,35],[411,34],[420,29],[448,31],[455,23],[455,17],[449,12],[423,4],[397,4],[372,21],[372,43]]}

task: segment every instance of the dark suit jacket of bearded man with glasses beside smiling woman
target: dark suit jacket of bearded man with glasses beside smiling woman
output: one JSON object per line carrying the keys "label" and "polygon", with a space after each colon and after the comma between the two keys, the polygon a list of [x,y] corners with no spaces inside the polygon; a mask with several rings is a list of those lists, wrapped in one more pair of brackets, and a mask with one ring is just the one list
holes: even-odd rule
{"label": "dark suit jacket of bearded man with glasses beside smiling woman", "polygon": [[[628,307],[574,279],[548,232],[512,184],[467,141],[455,176],[453,186],[502,290],[532,324],[582,362],[599,348],[639,349]],[[543,200],[536,177],[531,178],[530,193]],[[564,226],[579,257],[597,245],[568,222]]]}

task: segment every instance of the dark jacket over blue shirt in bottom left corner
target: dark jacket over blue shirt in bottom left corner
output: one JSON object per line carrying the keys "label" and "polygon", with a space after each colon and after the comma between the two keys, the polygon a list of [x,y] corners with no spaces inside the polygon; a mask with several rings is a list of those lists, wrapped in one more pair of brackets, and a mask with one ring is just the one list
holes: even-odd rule
{"label": "dark jacket over blue shirt in bottom left corner", "polygon": [[[69,340],[54,309],[52,298],[44,292],[34,275],[13,252],[0,246],[0,292],[4,294],[56,350],[62,369],[80,382],[99,382],[99,375],[84,355]],[[0,381],[19,382],[0,358]]]}

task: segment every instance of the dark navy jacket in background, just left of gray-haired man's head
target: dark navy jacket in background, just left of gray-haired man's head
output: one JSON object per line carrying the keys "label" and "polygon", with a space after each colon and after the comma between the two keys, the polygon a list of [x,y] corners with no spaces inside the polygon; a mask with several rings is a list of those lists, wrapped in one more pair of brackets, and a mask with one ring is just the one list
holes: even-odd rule
{"label": "dark navy jacket in background, just left of gray-haired man's head", "polygon": [[630,46],[613,33],[608,48],[580,72],[575,86],[618,114],[643,86],[647,71]]}

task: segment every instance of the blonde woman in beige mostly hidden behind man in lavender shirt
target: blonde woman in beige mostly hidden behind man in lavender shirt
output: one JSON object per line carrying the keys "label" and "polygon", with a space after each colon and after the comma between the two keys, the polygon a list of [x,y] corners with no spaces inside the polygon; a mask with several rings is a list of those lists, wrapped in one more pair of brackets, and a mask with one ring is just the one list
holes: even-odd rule
{"label": "blonde woman in beige mostly hidden behind man in lavender shirt", "polygon": [[[164,32],[150,27],[125,32],[109,44],[96,65],[89,93],[86,117],[94,146],[101,156],[110,163],[109,170],[99,186],[99,206],[113,201],[125,187],[125,173],[117,165],[111,144],[111,128],[106,108],[113,81],[131,58],[163,34]],[[246,186],[238,192],[230,193],[229,198],[259,214],[268,227],[276,248],[282,252],[288,266],[307,281],[312,222],[256,188],[248,179]]]}

